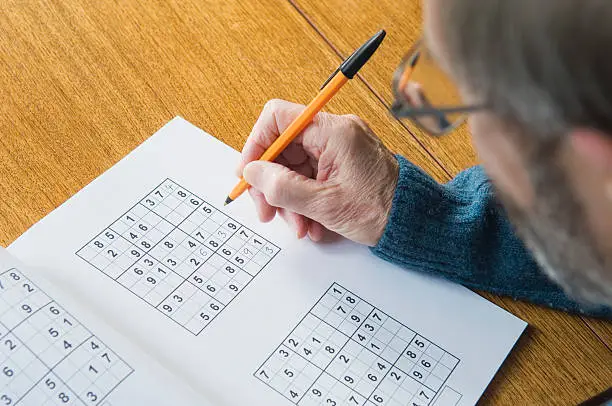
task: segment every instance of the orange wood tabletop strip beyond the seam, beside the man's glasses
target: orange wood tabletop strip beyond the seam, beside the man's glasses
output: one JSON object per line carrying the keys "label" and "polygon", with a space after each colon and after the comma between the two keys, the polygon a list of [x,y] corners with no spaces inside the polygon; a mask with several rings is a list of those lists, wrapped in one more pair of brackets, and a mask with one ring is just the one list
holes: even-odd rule
{"label": "orange wood tabletop strip beyond the seam, beside the man's glasses", "polygon": [[[362,69],[361,76],[381,101],[390,105],[393,72],[410,46],[421,37],[420,0],[291,1],[342,56],[350,55],[370,33],[381,28],[387,30],[383,45]],[[465,126],[452,137],[442,138],[424,134],[409,121],[406,126],[450,175],[476,163]]]}

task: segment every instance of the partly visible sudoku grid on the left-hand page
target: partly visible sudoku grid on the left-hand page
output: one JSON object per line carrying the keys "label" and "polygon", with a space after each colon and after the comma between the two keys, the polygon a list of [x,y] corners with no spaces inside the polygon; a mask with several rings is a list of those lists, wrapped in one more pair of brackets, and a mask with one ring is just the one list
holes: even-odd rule
{"label": "partly visible sudoku grid on the left-hand page", "polygon": [[133,372],[19,270],[0,293],[0,404],[97,405]]}

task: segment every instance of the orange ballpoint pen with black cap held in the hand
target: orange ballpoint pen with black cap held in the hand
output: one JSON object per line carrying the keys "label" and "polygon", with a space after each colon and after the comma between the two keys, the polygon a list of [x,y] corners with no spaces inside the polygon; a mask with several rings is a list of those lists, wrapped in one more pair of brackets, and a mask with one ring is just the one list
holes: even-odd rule
{"label": "orange ballpoint pen with black cap held in the hand", "polygon": [[[378,48],[382,40],[385,38],[385,30],[381,30],[370,38],[365,44],[360,46],[351,54],[342,64],[332,73],[332,75],[323,83],[319,93],[306,106],[304,111],[289,124],[289,127],[270,145],[270,147],[259,157],[260,161],[274,161],[287,146],[310,124],[312,119],[323,106],[331,100],[332,97],[349,79],[352,79],[363,65],[370,59],[374,51]],[[238,184],[232,189],[230,194],[225,199],[225,204],[229,204],[236,200],[238,196],[244,193],[249,188],[249,184],[240,178]]]}

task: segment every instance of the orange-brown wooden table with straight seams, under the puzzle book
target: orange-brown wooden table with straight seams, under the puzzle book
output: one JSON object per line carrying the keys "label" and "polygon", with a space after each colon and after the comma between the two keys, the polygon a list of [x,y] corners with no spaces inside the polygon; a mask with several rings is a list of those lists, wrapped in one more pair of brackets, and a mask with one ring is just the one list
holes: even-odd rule
{"label": "orange-brown wooden table with straight seams, under the puzzle book", "polygon": [[[240,148],[266,100],[309,101],[382,27],[382,49],[328,110],[360,115],[394,151],[448,180],[476,162],[467,131],[431,139],[386,111],[393,69],[420,32],[417,0],[4,0],[0,242],[175,115]],[[485,296],[530,328],[482,404],[573,404],[610,385],[609,322]]]}

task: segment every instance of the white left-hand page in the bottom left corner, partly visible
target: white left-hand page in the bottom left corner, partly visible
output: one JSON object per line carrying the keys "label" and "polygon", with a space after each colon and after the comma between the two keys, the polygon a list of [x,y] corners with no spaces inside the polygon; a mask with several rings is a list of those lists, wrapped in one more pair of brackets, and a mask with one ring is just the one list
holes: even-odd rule
{"label": "white left-hand page in the bottom left corner, partly visible", "polygon": [[2,404],[209,404],[43,274],[0,248]]}

